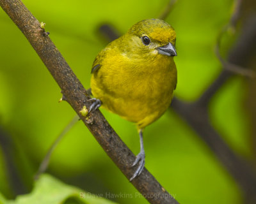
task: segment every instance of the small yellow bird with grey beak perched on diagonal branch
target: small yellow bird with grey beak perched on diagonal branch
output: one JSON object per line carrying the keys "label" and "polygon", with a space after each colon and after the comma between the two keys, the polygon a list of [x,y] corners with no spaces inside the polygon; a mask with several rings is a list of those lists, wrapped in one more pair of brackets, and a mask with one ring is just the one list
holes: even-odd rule
{"label": "small yellow bird with grey beak perched on diagonal branch", "polygon": [[141,20],[100,51],[93,62],[90,111],[102,106],[131,122],[140,133],[139,163],[134,179],[143,171],[143,129],[170,106],[177,84],[173,56],[176,33],[159,19]]}

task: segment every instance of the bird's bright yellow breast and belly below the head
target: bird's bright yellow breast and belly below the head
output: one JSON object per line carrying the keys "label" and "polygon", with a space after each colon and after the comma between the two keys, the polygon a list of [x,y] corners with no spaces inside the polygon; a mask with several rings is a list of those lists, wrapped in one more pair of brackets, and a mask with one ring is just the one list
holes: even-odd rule
{"label": "bird's bright yellow breast and belly below the head", "polygon": [[158,61],[151,62],[143,69],[133,65],[131,68],[129,63],[118,69],[115,63],[110,69],[102,64],[92,75],[91,88],[93,97],[100,99],[104,108],[143,129],[170,106],[176,83],[173,59],[163,56],[160,65]]}

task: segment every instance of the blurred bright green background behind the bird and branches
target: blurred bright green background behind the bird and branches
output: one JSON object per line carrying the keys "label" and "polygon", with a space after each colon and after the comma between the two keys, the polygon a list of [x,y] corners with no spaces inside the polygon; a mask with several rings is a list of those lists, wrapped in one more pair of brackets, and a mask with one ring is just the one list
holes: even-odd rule
{"label": "blurred bright green background behind the bird and branches", "polygon": [[[88,88],[92,62],[108,43],[98,33],[99,26],[108,23],[125,33],[136,22],[159,16],[168,0],[24,0],[23,3],[39,21],[46,23],[51,40]],[[233,3],[177,1],[166,18],[177,32],[177,98],[186,101],[198,98],[220,73],[214,45],[221,27],[230,18]],[[0,192],[13,199],[16,194],[31,191],[40,161],[75,112],[67,103],[58,103],[60,88],[3,10],[0,10],[0,25]],[[236,36],[225,38],[223,54],[235,40]],[[222,87],[211,103],[210,113],[214,128],[228,145],[242,156],[252,158],[250,122],[244,110],[247,93],[244,81],[236,77]],[[134,124],[101,111],[132,152],[138,154],[140,144]],[[242,203],[236,182],[176,113],[168,110],[148,126],[144,142],[145,166],[180,203]],[[61,140],[47,172],[90,193],[133,195],[133,198],[112,199],[118,203],[147,203],[144,198],[136,198],[138,191],[82,122]],[[12,180],[17,181],[16,186]]]}

